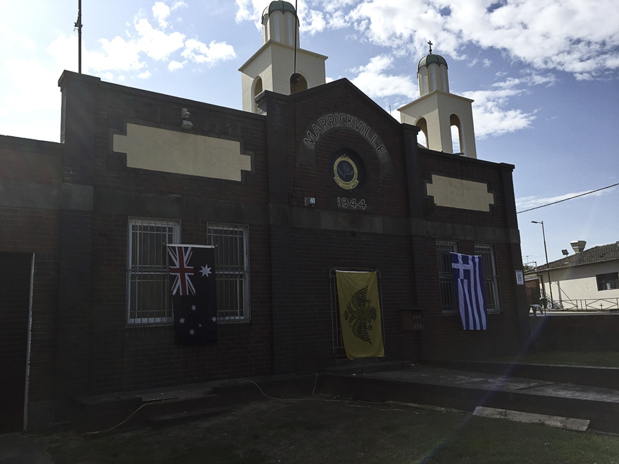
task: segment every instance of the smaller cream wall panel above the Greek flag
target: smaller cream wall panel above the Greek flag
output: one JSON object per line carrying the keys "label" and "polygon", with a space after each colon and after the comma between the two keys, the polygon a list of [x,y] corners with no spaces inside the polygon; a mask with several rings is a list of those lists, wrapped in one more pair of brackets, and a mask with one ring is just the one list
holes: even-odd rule
{"label": "smaller cream wall panel above the Greek flag", "polygon": [[488,192],[488,186],[483,182],[433,175],[432,183],[426,188],[437,206],[490,211],[490,205],[495,204],[495,196]]}

